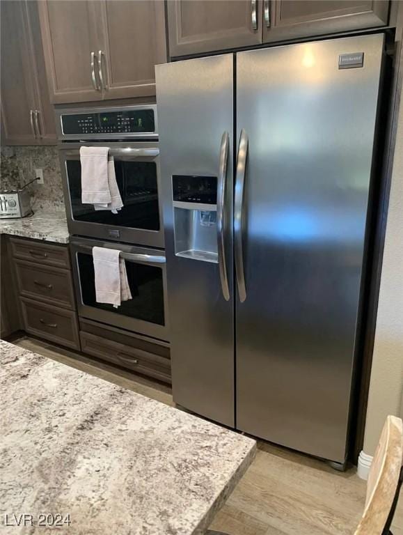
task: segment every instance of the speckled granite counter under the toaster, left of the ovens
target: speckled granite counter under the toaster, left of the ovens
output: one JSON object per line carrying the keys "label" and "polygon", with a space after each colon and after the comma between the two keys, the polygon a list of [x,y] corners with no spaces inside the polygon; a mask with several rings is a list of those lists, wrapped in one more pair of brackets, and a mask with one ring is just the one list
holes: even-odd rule
{"label": "speckled granite counter under the toaster, left of the ovens", "polygon": [[31,217],[0,219],[0,234],[68,243],[69,232],[64,210],[38,210]]}

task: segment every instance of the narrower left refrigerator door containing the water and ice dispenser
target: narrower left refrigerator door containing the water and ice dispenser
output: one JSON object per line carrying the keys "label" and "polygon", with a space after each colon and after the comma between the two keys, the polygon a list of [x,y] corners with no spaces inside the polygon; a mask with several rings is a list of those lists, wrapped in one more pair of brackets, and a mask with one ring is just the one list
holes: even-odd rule
{"label": "narrower left refrigerator door containing the water and ice dispenser", "polygon": [[[156,68],[173,399],[228,426],[235,425],[233,61],[227,54]],[[214,184],[214,192],[205,186]],[[215,194],[216,204],[203,204]]]}

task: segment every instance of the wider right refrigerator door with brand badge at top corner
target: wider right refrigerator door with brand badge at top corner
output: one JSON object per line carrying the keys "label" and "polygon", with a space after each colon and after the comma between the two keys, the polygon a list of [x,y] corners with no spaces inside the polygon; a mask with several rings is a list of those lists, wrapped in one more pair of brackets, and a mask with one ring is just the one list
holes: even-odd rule
{"label": "wider right refrigerator door with brand badge at top corner", "polygon": [[235,304],[237,428],[338,463],[383,39],[237,54],[237,128],[248,137],[237,222],[246,286]]}

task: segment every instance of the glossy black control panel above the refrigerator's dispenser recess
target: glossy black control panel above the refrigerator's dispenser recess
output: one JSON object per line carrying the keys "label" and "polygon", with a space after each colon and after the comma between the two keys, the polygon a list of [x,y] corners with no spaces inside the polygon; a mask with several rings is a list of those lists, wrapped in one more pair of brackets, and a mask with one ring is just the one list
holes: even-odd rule
{"label": "glossy black control panel above the refrigerator's dispenser recess", "polygon": [[217,177],[173,175],[173,200],[182,203],[217,203]]}

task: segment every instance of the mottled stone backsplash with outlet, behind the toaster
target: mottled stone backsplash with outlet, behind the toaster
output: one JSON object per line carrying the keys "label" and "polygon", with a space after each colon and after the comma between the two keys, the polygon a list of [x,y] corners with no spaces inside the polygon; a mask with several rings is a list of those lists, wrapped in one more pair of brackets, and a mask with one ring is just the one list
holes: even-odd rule
{"label": "mottled stone backsplash with outlet, behind the toaster", "polygon": [[43,184],[28,186],[33,210],[64,209],[61,171],[56,147],[1,147],[1,189],[17,189],[43,170]]}

